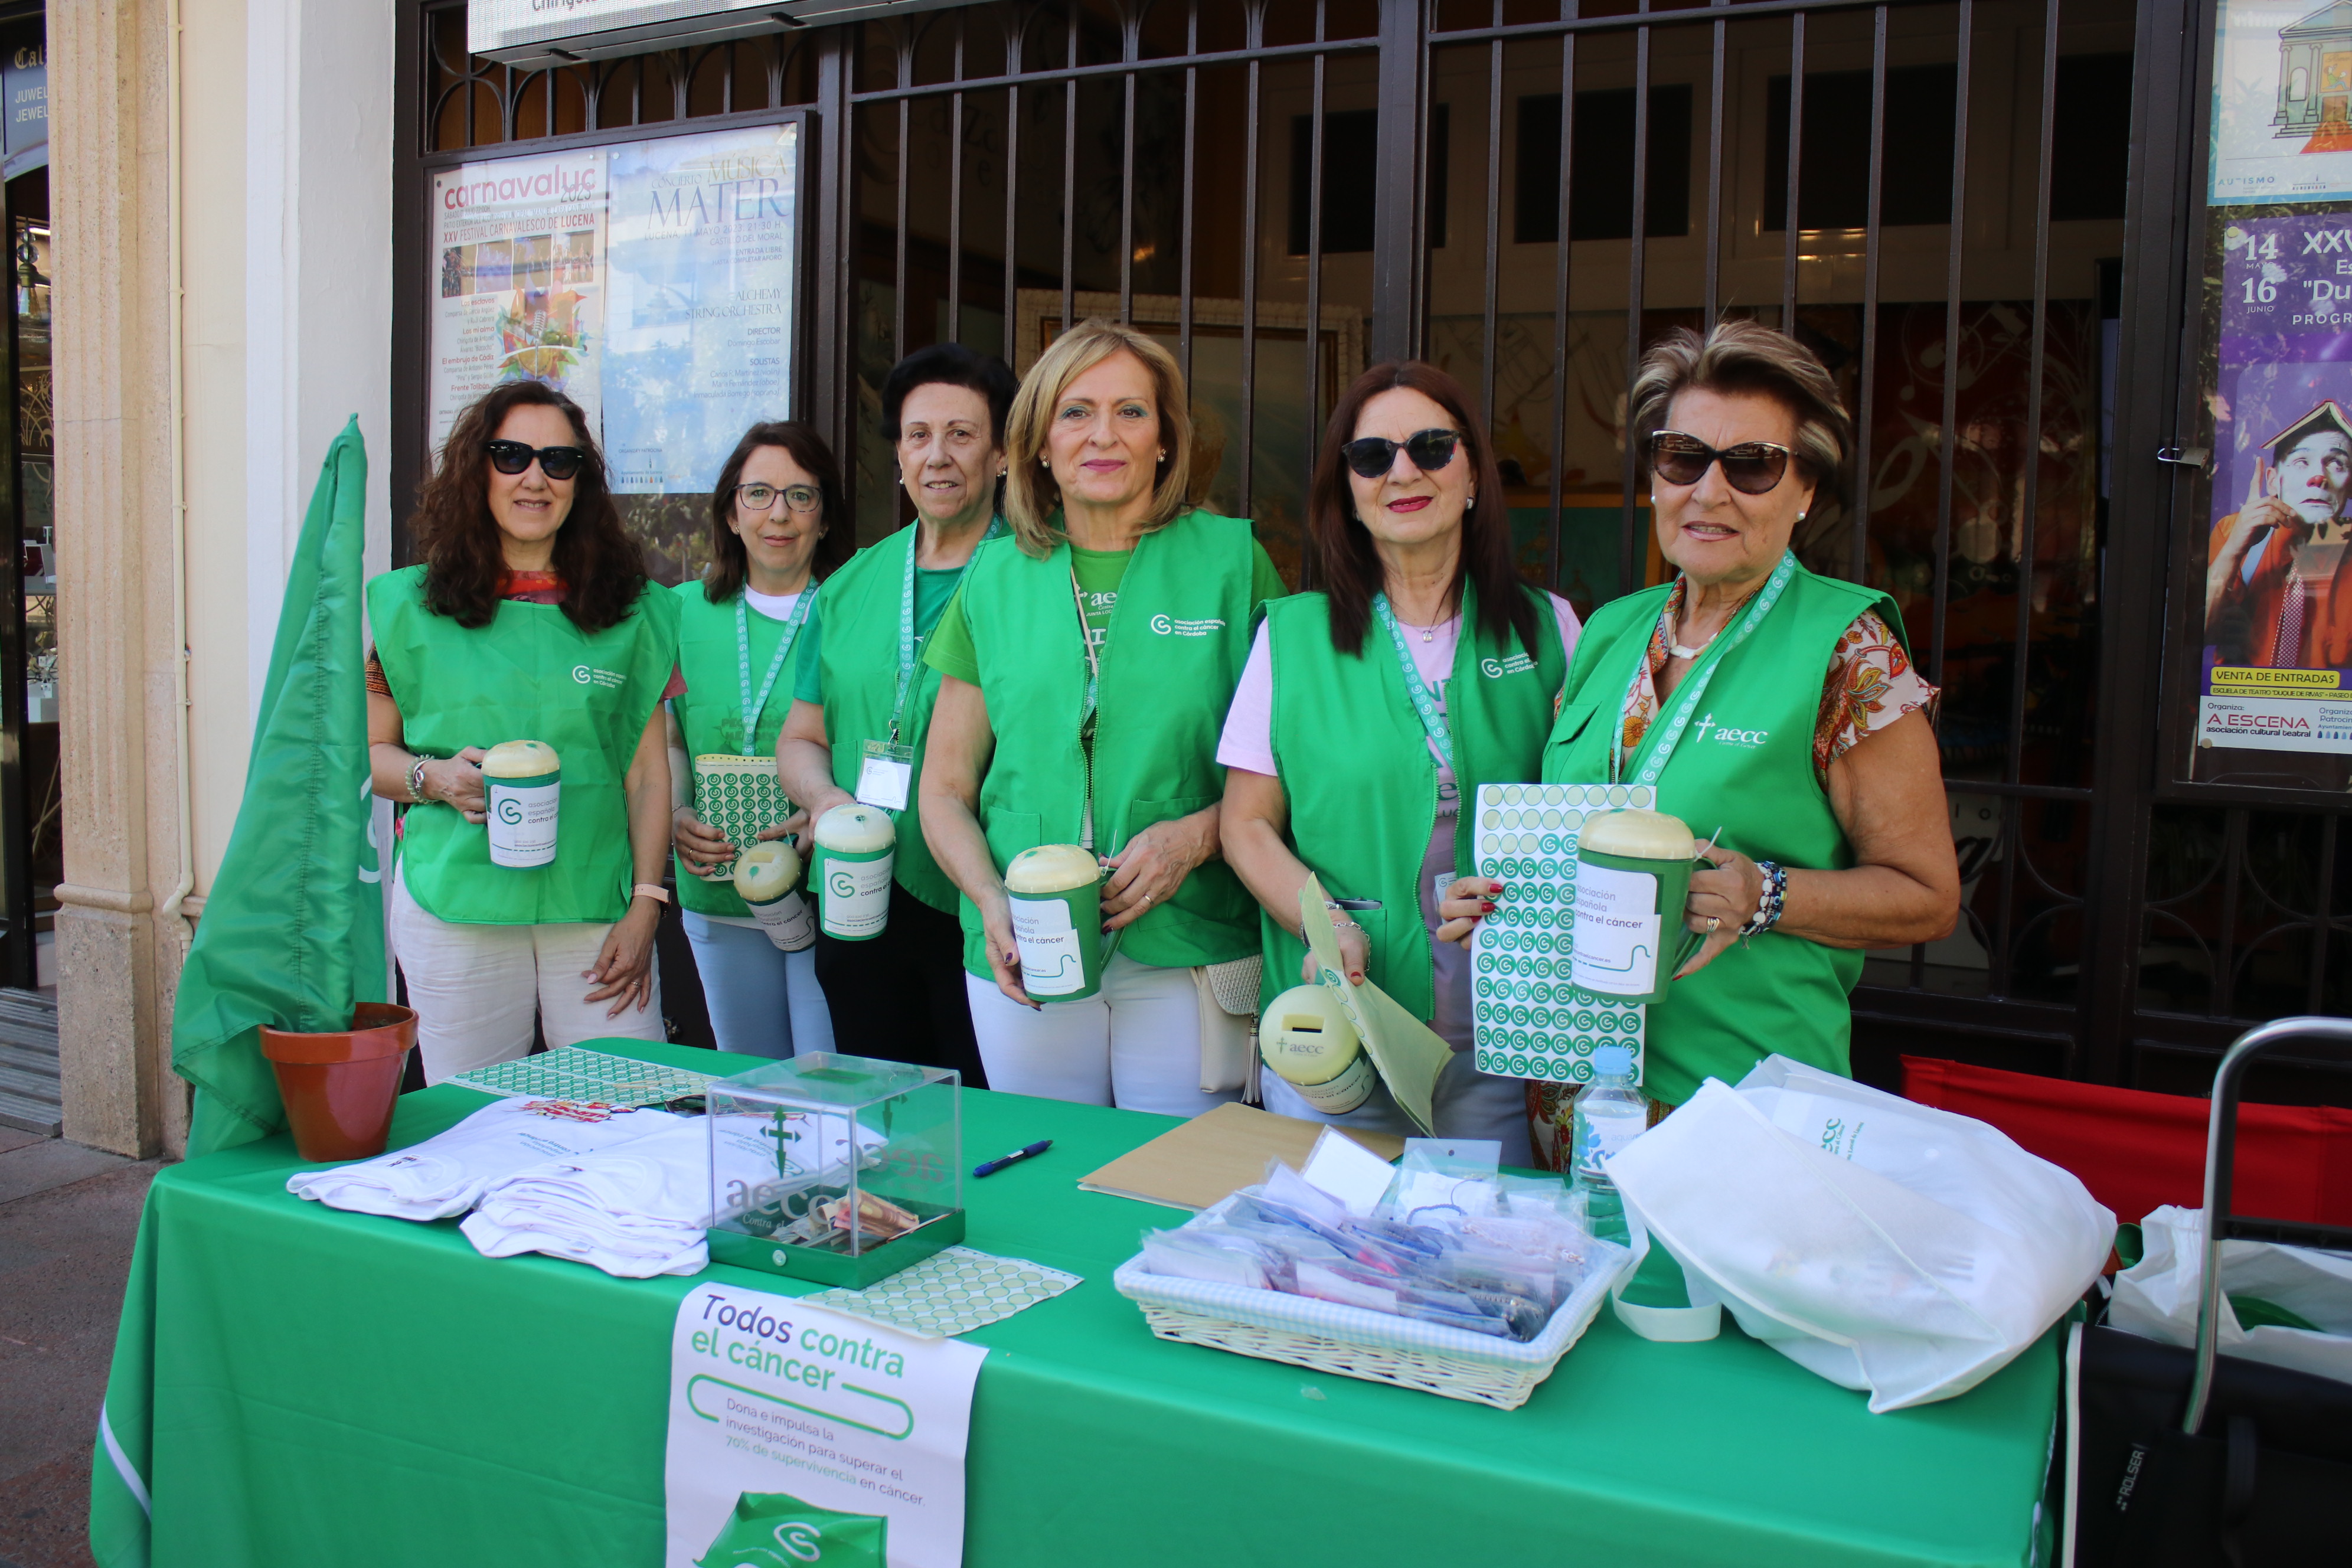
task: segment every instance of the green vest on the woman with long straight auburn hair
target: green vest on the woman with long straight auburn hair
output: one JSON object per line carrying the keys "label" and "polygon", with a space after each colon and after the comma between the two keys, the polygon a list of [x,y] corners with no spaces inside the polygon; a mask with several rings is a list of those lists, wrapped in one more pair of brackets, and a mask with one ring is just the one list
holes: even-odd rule
{"label": "green vest on the woman with long straight auburn hair", "polygon": [[[1463,583],[1463,639],[1446,679],[1446,726],[1461,799],[1482,783],[1526,783],[1543,764],[1552,696],[1566,679],[1559,621],[1536,599],[1536,656],[1517,637],[1477,625],[1477,590]],[[1421,1018],[1437,1009],[1430,933],[1421,924],[1421,860],[1437,830],[1437,759],[1404,689],[1397,649],[1378,623],[1359,654],[1331,646],[1331,602],[1301,592],[1265,607],[1275,670],[1272,750],[1291,809],[1291,849],[1331,898],[1378,898],[1352,910],[1371,940],[1367,976]],[[1454,875],[1472,875],[1475,835],[1454,837]],[[1305,945],[1261,912],[1261,1006],[1298,985]]]}

